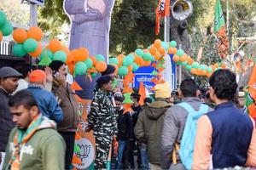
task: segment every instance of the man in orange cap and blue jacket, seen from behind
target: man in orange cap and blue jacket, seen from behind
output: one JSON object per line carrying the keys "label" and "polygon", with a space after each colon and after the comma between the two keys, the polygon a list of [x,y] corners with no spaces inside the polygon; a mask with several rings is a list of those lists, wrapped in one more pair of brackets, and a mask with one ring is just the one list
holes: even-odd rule
{"label": "man in orange cap and blue jacket, seen from behind", "polygon": [[55,95],[44,90],[46,83],[45,72],[41,70],[32,71],[29,78],[31,83],[28,85],[27,89],[37,100],[40,112],[43,116],[47,116],[55,122],[61,122],[63,120],[63,113]]}

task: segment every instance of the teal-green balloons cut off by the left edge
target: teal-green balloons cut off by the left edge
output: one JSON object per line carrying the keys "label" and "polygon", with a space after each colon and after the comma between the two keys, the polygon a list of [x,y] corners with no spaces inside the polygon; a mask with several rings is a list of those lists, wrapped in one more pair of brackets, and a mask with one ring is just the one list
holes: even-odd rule
{"label": "teal-green balloons cut off by the left edge", "polygon": [[9,36],[13,31],[13,26],[7,20],[6,14],[0,10],[0,42],[3,39],[3,36]]}

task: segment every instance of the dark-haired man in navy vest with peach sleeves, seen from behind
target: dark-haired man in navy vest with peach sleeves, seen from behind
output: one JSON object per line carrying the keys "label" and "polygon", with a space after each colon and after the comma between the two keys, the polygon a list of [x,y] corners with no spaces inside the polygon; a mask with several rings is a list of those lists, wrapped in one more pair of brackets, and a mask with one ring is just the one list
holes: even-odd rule
{"label": "dark-haired man in navy vest with peach sleeves, seen from behind", "polygon": [[193,169],[256,167],[255,122],[232,103],[236,75],[218,70],[209,82],[210,98],[217,106],[198,121]]}

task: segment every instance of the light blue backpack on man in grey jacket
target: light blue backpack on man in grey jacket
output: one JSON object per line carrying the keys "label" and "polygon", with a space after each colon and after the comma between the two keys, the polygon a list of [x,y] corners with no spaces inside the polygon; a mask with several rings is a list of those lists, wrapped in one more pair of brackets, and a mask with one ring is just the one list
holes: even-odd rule
{"label": "light blue backpack on man in grey jacket", "polygon": [[178,153],[183,163],[183,166],[187,169],[191,169],[193,162],[193,152],[195,147],[197,121],[201,116],[205,115],[208,112],[208,106],[201,104],[200,110],[195,111],[195,109],[191,105],[185,102],[182,102],[178,105],[182,106],[189,113],[183,130],[183,138]]}

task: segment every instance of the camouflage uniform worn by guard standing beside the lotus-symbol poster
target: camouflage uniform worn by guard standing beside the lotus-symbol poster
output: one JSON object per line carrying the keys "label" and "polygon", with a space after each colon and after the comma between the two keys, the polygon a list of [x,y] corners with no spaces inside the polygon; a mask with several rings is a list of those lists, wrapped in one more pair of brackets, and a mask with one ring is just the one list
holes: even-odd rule
{"label": "camouflage uniform worn by guard standing beside the lotus-symbol poster", "polygon": [[96,138],[95,169],[106,168],[109,146],[113,135],[118,133],[115,110],[108,96],[106,91],[96,88],[88,115],[89,126],[93,127]]}

